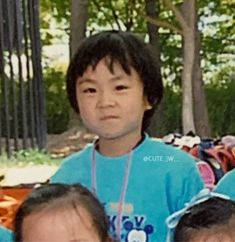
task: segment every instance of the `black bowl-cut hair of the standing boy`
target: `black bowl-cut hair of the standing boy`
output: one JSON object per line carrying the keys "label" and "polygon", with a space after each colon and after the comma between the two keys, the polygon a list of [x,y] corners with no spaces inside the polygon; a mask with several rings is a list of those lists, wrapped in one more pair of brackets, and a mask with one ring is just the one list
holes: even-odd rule
{"label": "black bowl-cut hair of the standing boy", "polygon": [[104,31],[85,39],[79,46],[76,54],[70,62],[67,71],[67,93],[72,108],[79,113],[76,98],[76,82],[88,66],[94,69],[98,62],[107,58],[108,68],[113,73],[113,64],[119,63],[123,70],[131,73],[131,67],[140,76],[144,95],[147,97],[151,110],[144,113],[142,131],[150,124],[151,117],[162,99],[163,85],[160,68],[148,46],[128,32]]}

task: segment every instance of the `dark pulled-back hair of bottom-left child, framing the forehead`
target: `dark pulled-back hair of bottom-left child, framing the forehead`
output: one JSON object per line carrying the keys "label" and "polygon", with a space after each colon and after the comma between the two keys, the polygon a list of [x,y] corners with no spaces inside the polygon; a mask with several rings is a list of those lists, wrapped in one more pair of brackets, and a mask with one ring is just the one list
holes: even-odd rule
{"label": "dark pulled-back hair of bottom-left child, framing the forehead", "polygon": [[[73,209],[78,212],[79,207],[86,209],[94,225],[100,241],[107,241],[108,219],[103,206],[98,199],[80,184],[48,184],[33,190],[16,212],[14,220],[15,241],[23,242],[23,222],[30,214],[44,209]],[[79,213],[78,213],[79,216]],[[66,221],[61,221],[66,223]]]}

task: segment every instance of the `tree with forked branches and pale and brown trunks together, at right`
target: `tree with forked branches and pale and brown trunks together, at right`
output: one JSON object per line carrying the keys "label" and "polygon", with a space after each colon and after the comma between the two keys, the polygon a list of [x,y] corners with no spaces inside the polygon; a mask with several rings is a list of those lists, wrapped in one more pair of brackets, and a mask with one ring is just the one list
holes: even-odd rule
{"label": "tree with forked branches and pale and brown trunks together, at right", "polygon": [[[189,131],[200,135],[210,135],[209,119],[200,66],[200,39],[197,29],[196,0],[185,0],[179,7],[171,0],[164,0],[165,5],[174,14],[180,28],[159,19],[148,19],[158,26],[170,28],[182,35],[183,72],[182,72],[182,121],[183,133]],[[195,121],[197,125],[195,125]]]}

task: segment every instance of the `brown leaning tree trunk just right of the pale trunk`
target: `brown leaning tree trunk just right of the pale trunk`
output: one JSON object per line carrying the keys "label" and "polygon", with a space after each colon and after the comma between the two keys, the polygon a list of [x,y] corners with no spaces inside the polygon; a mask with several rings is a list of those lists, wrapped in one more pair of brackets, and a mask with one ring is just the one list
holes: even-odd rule
{"label": "brown leaning tree trunk just right of the pale trunk", "polygon": [[200,57],[200,33],[197,31],[196,53],[194,64],[194,81],[193,81],[193,97],[194,97],[194,121],[196,132],[200,137],[210,137],[211,130],[209,125],[207,102],[204,91],[204,83],[202,79],[201,57]]}

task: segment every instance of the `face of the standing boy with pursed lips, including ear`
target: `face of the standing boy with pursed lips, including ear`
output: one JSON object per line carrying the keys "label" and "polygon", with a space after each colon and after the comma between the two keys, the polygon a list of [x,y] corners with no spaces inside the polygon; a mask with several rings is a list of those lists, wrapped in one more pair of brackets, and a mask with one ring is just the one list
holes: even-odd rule
{"label": "face of the standing boy with pursed lips, including ear", "polygon": [[128,75],[114,63],[112,74],[102,59],[87,68],[77,80],[76,93],[81,118],[100,139],[116,139],[141,133],[145,110],[151,109],[143,84],[134,69]]}

